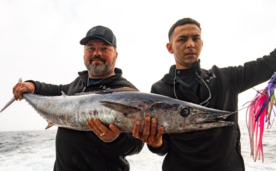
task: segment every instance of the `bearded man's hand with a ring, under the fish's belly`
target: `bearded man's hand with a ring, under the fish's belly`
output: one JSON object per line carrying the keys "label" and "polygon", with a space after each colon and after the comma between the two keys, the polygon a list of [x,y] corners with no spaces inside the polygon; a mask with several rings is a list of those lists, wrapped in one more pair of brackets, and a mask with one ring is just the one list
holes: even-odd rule
{"label": "bearded man's hand with a ring, under the fish's belly", "polygon": [[104,142],[114,141],[121,133],[121,129],[114,124],[106,127],[98,118],[89,119],[86,125]]}

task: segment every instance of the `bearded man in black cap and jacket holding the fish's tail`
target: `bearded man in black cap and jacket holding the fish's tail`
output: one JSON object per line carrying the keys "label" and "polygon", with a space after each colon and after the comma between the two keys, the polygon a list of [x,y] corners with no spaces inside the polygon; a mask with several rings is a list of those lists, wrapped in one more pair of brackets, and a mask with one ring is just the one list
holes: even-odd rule
{"label": "bearded man in black cap and jacket holding the fish's tail", "polygon": [[[115,67],[116,37],[109,28],[91,28],[80,44],[84,45],[87,70],[78,72],[73,82],[53,85],[28,80],[13,87],[14,98],[21,100],[24,92],[60,96],[61,91],[73,95],[119,87],[136,88],[122,77],[122,70]],[[97,118],[89,119],[87,126],[92,131],[58,128],[54,171],[129,171],[126,156],[138,154],[143,142],[130,133],[121,133],[113,124],[106,127]]]}

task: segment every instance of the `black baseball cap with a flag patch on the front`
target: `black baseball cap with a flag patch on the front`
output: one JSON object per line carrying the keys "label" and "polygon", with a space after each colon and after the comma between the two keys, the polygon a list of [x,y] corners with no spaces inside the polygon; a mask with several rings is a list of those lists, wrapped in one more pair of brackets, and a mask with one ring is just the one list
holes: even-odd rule
{"label": "black baseball cap with a flag patch on the front", "polygon": [[91,28],[87,33],[86,37],[80,40],[80,45],[85,45],[88,41],[93,39],[101,39],[106,41],[116,48],[116,37],[112,30],[104,26],[95,26]]}

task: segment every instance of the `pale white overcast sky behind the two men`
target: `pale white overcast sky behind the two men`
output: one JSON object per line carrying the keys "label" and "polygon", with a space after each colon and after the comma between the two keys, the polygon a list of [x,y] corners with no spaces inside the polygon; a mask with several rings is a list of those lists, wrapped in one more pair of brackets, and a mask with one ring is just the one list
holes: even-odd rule
{"label": "pale white overcast sky behind the two men", "polygon": [[[174,64],[166,43],[178,19],[201,23],[203,68],[236,66],[276,48],[275,7],[275,0],[0,0],[0,108],[12,98],[19,77],[52,84],[73,81],[85,70],[79,41],[93,26],[113,30],[117,67],[140,91],[149,92]],[[240,108],[255,94],[253,89],[240,94]],[[239,118],[245,119],[245,110]],[[0,131],[46,125],[25,100],[0,113]]]}

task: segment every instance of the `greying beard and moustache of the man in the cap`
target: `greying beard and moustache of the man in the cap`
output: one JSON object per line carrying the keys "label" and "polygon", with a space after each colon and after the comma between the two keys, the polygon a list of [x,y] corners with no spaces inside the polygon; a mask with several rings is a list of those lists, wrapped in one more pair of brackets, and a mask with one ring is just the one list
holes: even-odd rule
{"label": "greying beard and moustache of the man in the cap", "polygon": [[[100,60],[103,60],[103,64],[102,65],[98,65],[98,64],[94,64],[92,65],[91,62],[93,59],[100,59]],[[86,68],[92,73],[92,75],[94,76],[100,76],[100,75],[104,75],[106,73],[108,73],[111,69],[112,69],[112,65],[114,64],[115,62],[115,58],[113,59],[112,63],[110,65],[106,64],[106,61],[101,58],[101,57],[92,57],[90,60],[89,60],[89,63],[88,64],[85,64]]]}

